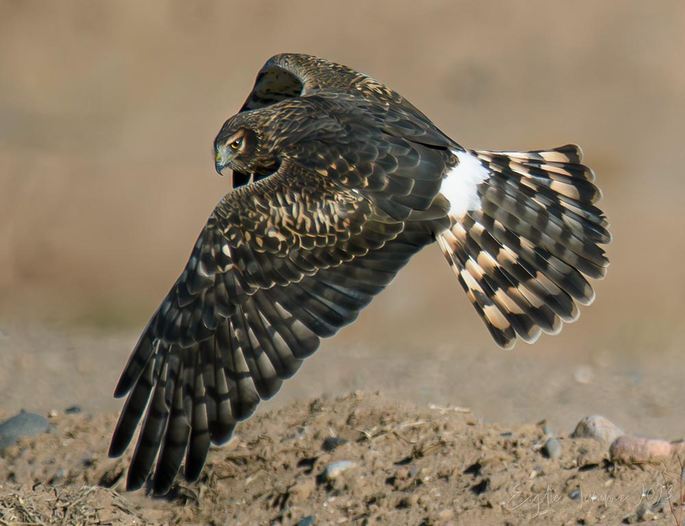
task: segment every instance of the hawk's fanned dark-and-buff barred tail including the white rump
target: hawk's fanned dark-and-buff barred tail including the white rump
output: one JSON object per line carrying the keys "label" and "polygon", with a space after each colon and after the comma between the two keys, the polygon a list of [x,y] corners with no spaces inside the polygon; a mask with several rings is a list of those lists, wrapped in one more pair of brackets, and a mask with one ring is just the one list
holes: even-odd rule
{"label": "hawk's fanned dark-and-buff barred tail including the white rump", "polygon": [[445,258],[501,347],[532,343],[575,321],[609,260],[601,192],[582,151],[454,151],[441,189],[451,227],[438,235]]}

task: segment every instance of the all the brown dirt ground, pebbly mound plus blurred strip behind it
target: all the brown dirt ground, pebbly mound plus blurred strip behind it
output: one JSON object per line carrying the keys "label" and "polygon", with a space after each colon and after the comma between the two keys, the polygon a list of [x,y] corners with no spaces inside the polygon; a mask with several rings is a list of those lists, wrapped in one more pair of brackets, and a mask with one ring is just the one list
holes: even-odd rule
{"label": "all the brown dirt ground, pebbly mound plus blurred strip behind it", "polygon": [[[0,420],[25,409],[49,416],[51,429],[0,455],[0,524],[676,523],[675,458],[614,464],[608,444],[569,437],[601,412],[630,433],[682,438],[677,368],[645,362],[636,378],[610,358],[560,366],[558,357],[453,349],[428,353],[419,374],[416,359],[395,355],[388,371],[378,349],[363,357],[336,340],[232,442],[212,448],[197,483],[179,480],[166,499],[125,492],[132,451],[106,451],[120,405],[111,390],[134,336],[3,329]],[[357,367],[362,377],[348,371]],[[385,396],[345,395],[358,384]],[[73,405],[82,412],[65,414]],[[545,432],[560,441],[559,458],[543,454]],[[329,437],[345,442],[325,451]],[[337,461],[353,466],[325,479]]]}

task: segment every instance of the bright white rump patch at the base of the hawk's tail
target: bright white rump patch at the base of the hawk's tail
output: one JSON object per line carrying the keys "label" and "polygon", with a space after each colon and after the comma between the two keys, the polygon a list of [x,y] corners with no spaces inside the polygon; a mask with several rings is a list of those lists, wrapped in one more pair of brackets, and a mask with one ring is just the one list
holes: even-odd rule
{"label": "bright white rump patch at the base of the hawk's tail", "polygon": [[452,151],[457,156],[459,164],[447,172],[440,192],[449,201],[449,215],[459,218],[470,210],[480,208],[480,197],[477,186],[491,173],[480,160],[465,151]]}

